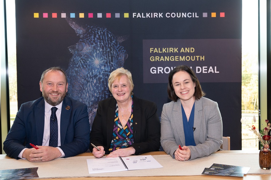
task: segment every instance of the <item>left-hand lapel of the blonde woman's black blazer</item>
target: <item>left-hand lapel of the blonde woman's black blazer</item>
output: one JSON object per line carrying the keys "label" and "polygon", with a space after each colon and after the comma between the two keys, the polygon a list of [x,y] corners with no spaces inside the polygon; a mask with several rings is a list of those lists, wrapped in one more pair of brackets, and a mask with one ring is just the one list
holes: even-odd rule
{"label": "left-hand lapel of the blonde woman's black blazer", "polygon": [[107,127],[106,127],[106,134],[107,134],[107,146],[110,147],[111,140],[112,140],[112,134],[113,134],[113,127],[115,122],[115,112],[116,112],[116,100],[114,98],[111,98],[108,106],[108,112],[107,112]]}

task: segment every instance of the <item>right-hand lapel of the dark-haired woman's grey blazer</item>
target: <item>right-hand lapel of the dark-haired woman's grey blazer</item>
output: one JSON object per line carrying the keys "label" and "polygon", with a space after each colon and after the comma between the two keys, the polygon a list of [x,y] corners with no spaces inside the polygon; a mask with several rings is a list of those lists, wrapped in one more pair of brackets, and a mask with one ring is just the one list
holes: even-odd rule
{"label": "right-hand lapel of the dark-haired woman's grey blazer", "polygon": [[195,114],[194,114],[194,128],[195,131],[194,131],[194,140],[195,140],[195,143],[198,144],[198,140],[200,139],[200,130],[201,130],[201,122],[202,122],[202,100],[199,99],[199,100],[196,100],[195,101]]}

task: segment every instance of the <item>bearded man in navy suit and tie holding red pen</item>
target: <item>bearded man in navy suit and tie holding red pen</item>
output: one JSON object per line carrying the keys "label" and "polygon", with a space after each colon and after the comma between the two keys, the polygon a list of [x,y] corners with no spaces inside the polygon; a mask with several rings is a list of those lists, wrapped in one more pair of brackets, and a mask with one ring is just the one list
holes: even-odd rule
{"label": "bearded man in navy suit and tie holding red pen", "polygon": [[[41,162],[87,151],[90,131],[87,106],[65,97],[68,91],[65,71],[59,67],[45,70],[41,75],[40,90],[43,97],[20,107],[3,143],[6,154],[16,159]],[[57,138],[54,139],[56,146],[52,147],[49,146],[50,117],[51,108],[56,109],[54,107],[57,108],[57,124],[54,126]],[[30,143],[37,146],[32,148]]]}

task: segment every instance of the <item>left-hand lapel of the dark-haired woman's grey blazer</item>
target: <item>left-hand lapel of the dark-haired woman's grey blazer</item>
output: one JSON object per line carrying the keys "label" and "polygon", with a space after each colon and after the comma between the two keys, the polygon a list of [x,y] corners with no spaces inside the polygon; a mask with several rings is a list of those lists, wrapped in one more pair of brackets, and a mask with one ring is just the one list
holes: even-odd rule
{"label": "left-hand lapel of the dark-haired woman's grey blazer", "polygon": [[177,102],[174,102],[172,107],[172,118],[174,119],[174,125],[179,135],[181,146],[185,145],[185,137],[183,131],[183,115],[182,115],[182,106],[180,99]]}

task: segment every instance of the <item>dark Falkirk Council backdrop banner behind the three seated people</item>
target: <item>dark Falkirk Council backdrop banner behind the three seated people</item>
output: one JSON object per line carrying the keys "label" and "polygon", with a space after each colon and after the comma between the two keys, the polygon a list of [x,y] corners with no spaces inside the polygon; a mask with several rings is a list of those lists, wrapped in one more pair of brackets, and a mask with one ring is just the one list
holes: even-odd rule
{"label": "dark Falkirk Council backdrop banner behind the three seated people", "polygon": [[218,102],[231,150],[241,142],[242,0],[16,0],[18,106],[41,97],[41,73],[61,66],[68,95],[92,123],[113,70],[132,72],[134,94],[161,115],[168,73],[190,66]]}

